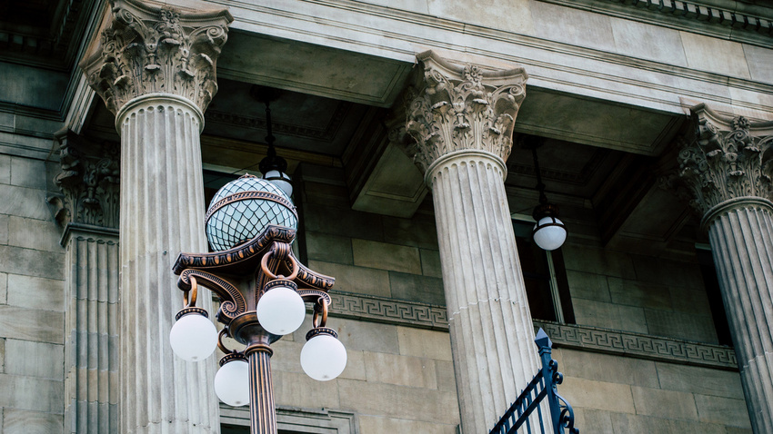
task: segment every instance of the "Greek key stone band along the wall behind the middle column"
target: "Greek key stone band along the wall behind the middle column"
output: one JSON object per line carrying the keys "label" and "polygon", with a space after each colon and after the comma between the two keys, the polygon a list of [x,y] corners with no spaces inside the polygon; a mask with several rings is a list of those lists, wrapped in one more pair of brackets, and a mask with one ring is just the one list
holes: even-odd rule
{"label": "Greek key stone band along the wall behind the middle column", "polygon": [[[448,330],[445,306],[340,291],[330,291],[330,297],[330,315],[338,318]],[[544,329],[557,348],[738,370],[735,350],[722,345],[549,321],[534,321],[534,327]]]}

